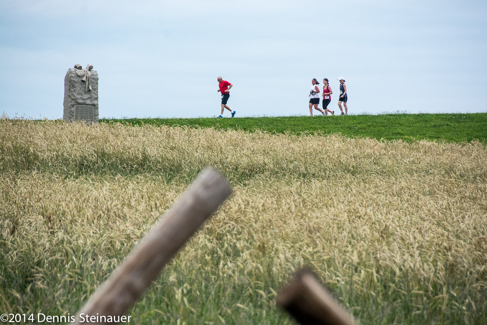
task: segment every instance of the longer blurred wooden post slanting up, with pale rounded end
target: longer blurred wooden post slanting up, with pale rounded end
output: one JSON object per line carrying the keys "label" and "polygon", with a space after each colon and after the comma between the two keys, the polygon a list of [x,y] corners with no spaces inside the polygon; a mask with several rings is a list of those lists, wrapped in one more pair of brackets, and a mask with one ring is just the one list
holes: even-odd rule
{"label": "longer blurred wooden post slanting up, with pale rounded end", "polygon": [[220,173],[211,169],[200,172],[187,191],[159,218],[88,303],[76,313],[74,324],[83,324],[79,317],[82,313],[90,316],[123,316],[164,265],[231,192],[228,181]]}

